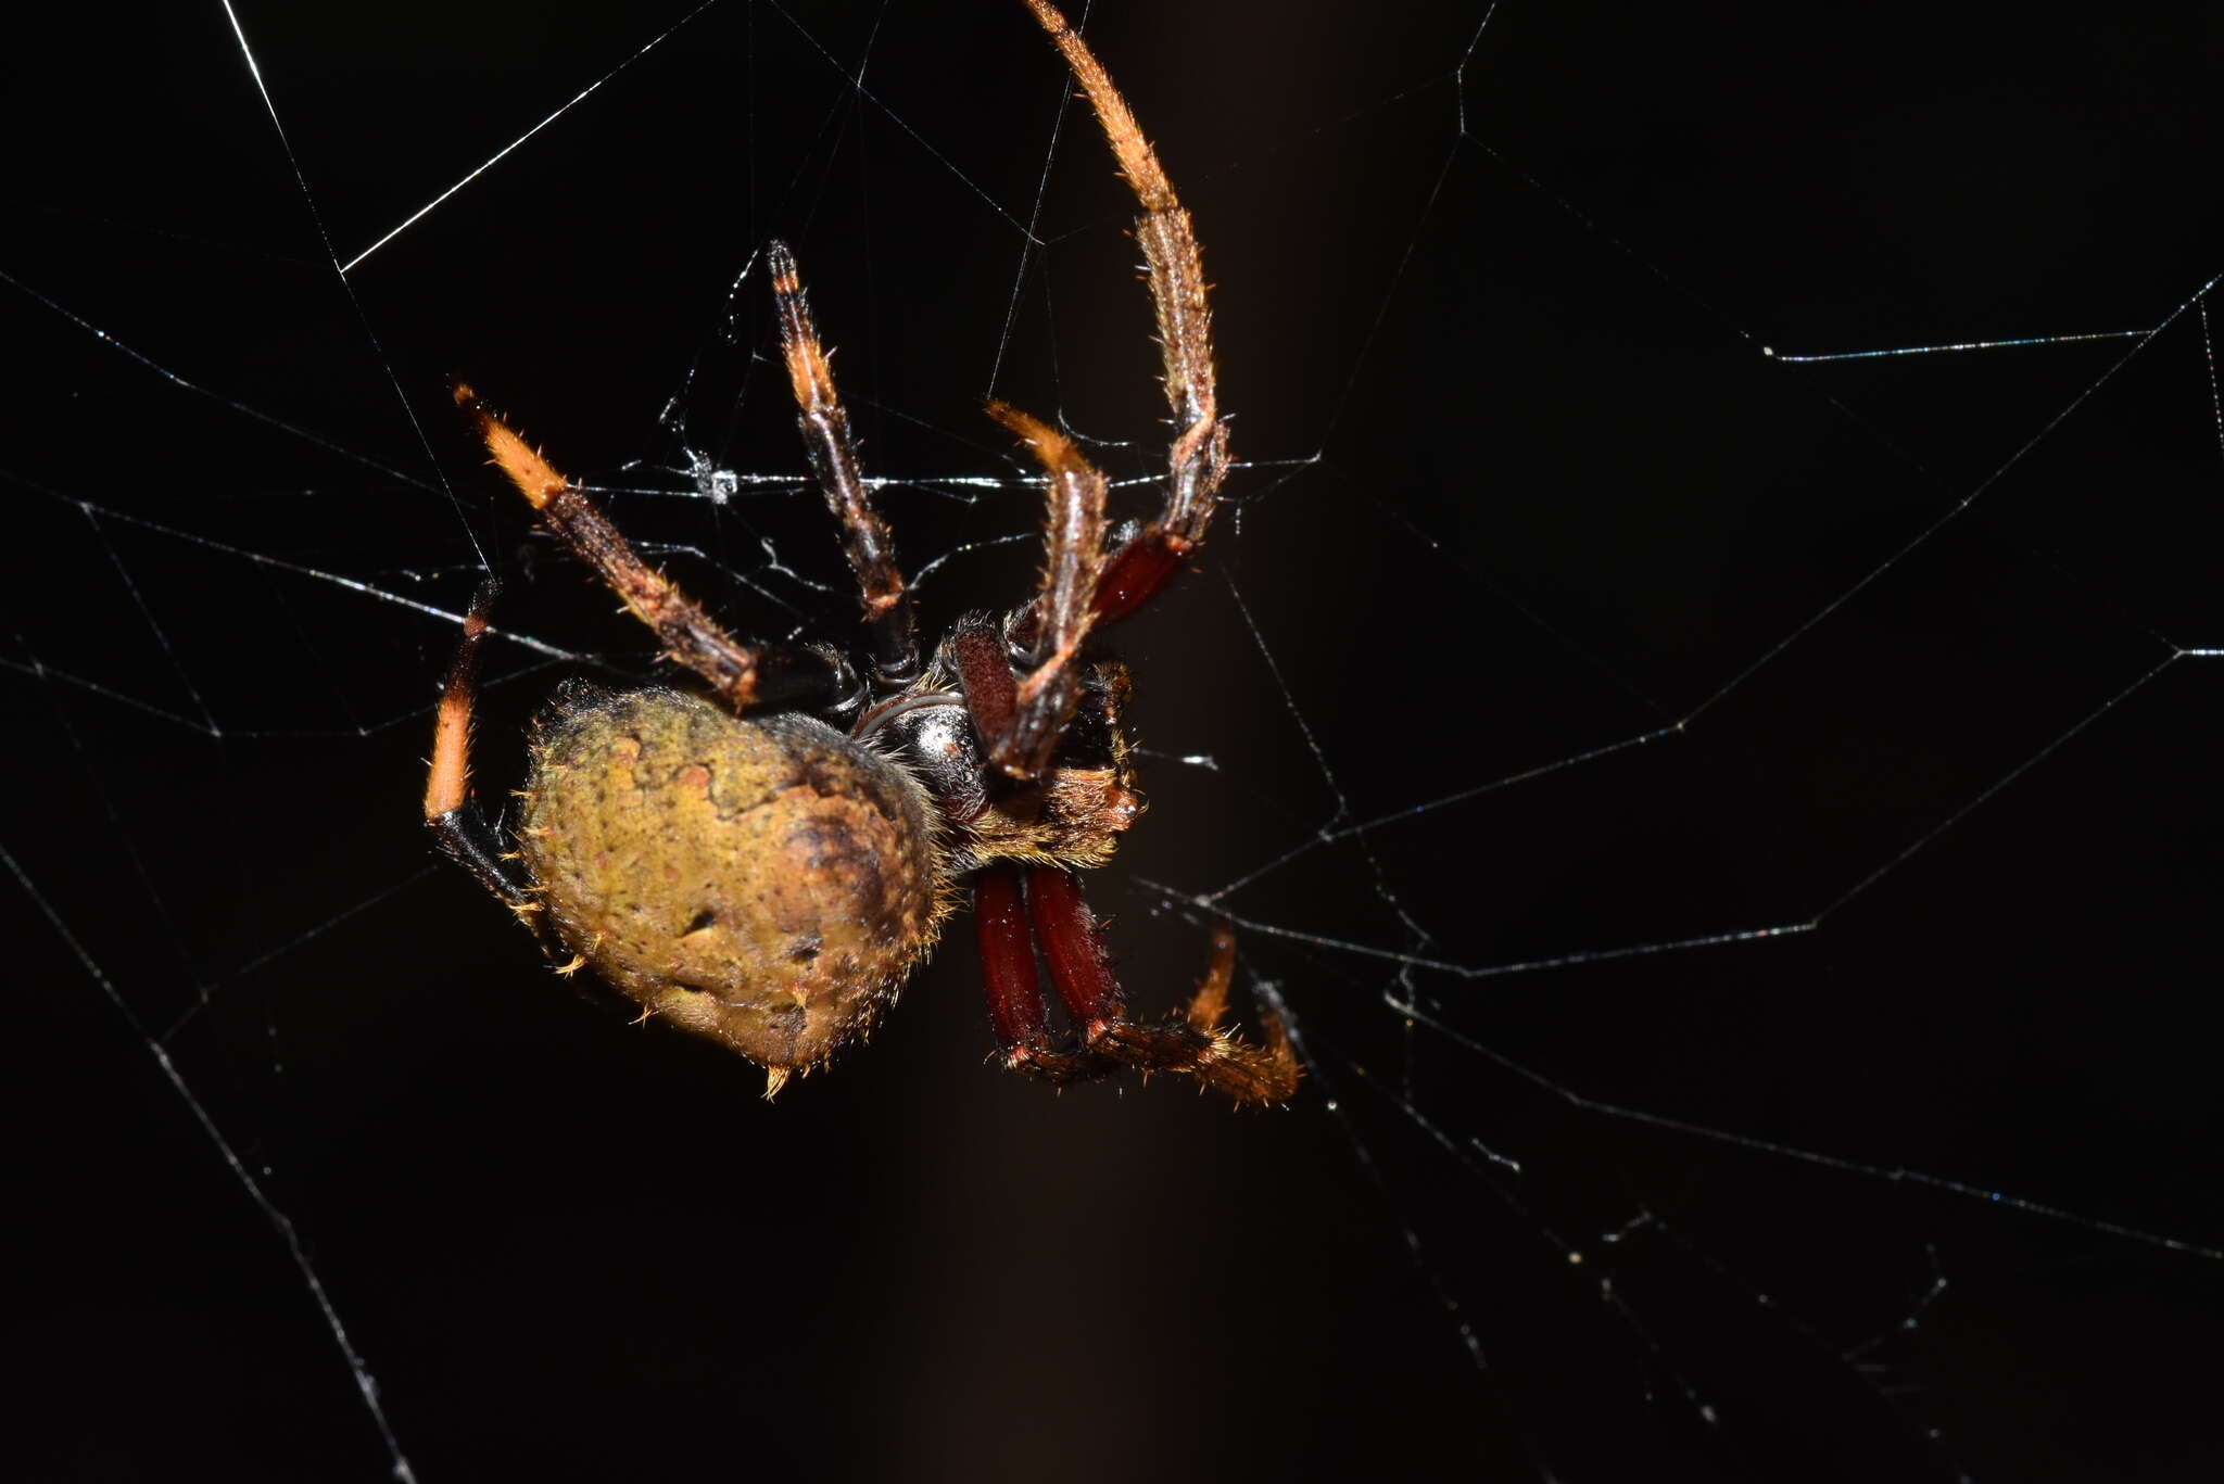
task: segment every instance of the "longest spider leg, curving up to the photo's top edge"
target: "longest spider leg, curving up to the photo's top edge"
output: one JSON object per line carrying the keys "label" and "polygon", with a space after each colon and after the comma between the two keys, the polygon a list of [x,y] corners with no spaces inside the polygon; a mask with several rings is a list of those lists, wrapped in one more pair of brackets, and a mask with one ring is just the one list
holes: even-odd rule
{"label": "longest spider leg, curving up to the photo's top edge", "polygon": [[1165,400],[1174,409],[1174,425],[1181,427],[1168,449],[1165,509],[1114,552],[1096,576],[1094,610],[1101,621],[1112,623],[1148,603],[1181,572],[1188,554],[1205,538],[1221,481],[1228,476],[1228,425],[1219,416],[1219,387],[1212,376],[1212,305],[1205,296],[1205,265],[1190,214],[1174,196],[1174,185],[1165,178],[1143,129],[1136,127],[1134,113],[1128,111],[1128,100],[1050,0],[1027,0],[1027,9],[1088,93],[1121,176],[1141,207],[1134,238],[1143,247],[1150,300],[1159,318]]}

